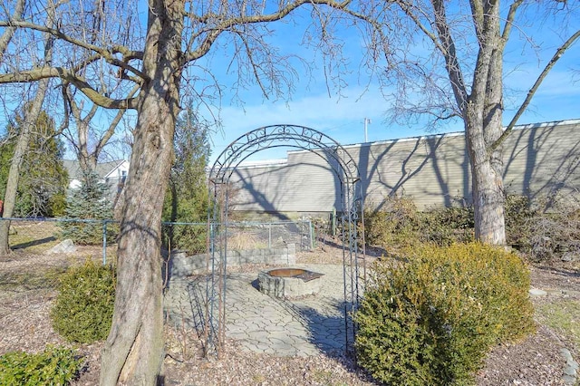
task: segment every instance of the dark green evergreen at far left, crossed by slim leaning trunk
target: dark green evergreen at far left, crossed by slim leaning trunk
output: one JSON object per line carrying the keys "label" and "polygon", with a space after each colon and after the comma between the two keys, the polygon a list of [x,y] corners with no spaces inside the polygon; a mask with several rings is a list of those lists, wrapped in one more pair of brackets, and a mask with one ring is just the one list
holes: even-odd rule
{"label": "dark green evergreen at far left, crossed by slim leaning trunk", "polygon": [[[14,154],[15,140],[24,118],[16,116],[0,142],[0,198],[5,195],[6,180]],[[63,143],[56,136],[54,121],[41,111],[31,132],[28,150],[21,166],[14,216],[61,216],[66,200],[68,175],[63,166]]]}

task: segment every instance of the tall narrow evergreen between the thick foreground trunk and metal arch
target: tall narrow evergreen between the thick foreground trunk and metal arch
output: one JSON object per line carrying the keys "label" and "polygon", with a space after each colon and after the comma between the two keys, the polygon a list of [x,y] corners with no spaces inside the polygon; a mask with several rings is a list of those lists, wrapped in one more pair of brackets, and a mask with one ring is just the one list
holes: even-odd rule
{"label": "tall narrow evergreen between the thick foreground trunk and metal arch", "polygon": [[[175,162],[163,206],[163,221],[203,222],[208,218],[206,167],[210,154],[208,128],[192,108],[179,117],[175,132]],[[200,252],[206,248],[206,226],[165,227],[172,248]]]}

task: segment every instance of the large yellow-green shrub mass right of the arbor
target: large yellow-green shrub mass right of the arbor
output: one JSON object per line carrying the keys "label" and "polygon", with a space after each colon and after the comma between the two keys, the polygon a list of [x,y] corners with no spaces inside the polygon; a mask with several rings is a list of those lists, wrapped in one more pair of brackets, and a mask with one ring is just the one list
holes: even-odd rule
{"label": "large yellow-green shrub mass right of the arbor", "polygon": [[421,246],[374,265],[354,315],[358,362],[387,384],[469,384],[495,343],[534,330],[521,259],[480,244]]}

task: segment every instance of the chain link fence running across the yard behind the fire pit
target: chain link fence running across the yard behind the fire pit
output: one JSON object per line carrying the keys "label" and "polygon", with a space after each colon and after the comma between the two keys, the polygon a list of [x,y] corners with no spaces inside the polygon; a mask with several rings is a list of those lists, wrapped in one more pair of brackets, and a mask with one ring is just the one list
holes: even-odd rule
{"label": "chain link fence running across the yard behind the fire pit", "polygon": [[[75,254],[95,256],[100,252],[102,264],[114,258],[119,222],[111,219],[82,218],[8,218],[10,246],[20,254],[55,256]],[[294,244],[296,251],[314,249],[314,225],[309,219],[295,221],[230,222],[212,224],[213,231],[227,231],[228,249],[246,250],[284,247]],[[163,222],[162,246],[201,254],[208,250],[208,223]],[[72,241],[67,241],[71,239]]]}

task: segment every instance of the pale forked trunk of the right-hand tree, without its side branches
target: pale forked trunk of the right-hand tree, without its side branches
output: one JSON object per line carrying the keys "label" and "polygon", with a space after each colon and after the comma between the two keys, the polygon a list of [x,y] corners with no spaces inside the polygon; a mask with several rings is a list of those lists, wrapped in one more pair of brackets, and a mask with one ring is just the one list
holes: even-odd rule
{"label": "pale forked trunk of the right-hand tree, without its side branches", "polygon": [[502,149],[491,149],[502,134],[504,42],[499,6],[489,3],[479,11],[474,12],[480,27],[478,61],[464,113],[473,177],[475,236],[482,243],[505,245]]}

